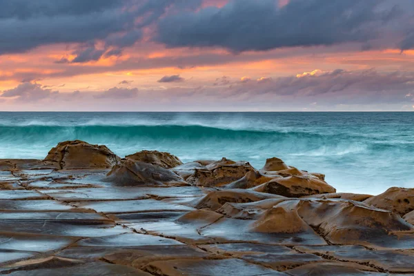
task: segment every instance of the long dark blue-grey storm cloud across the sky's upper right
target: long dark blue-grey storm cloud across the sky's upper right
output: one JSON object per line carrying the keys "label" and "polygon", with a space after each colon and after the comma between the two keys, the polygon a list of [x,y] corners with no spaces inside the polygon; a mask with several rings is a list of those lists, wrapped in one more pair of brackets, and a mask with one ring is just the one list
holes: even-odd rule
{"label": "long dark blue-grey storm cloud across the sky's upper right", "polygon": [[[156,40],[170,47],[220,46],[235,52],[366,43],[388,28],[410,24],[412,6],[406,0],[291,0],[279,8],[275,0],[233,0],[222,8],[168,15],[158,23]],[[400,24],[393,26],[398,18]]]}

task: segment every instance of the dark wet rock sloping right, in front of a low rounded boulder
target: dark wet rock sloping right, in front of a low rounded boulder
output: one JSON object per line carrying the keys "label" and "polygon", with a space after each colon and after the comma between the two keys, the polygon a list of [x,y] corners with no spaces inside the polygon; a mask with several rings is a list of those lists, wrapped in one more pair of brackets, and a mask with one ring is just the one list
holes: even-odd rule
{"label": "dark wet rock sloping right, in front of a low rounded boulder", "polygon": [[171,170],[130,159],[121,159],[103,181],[116,186],[187,185],[184,179]]}

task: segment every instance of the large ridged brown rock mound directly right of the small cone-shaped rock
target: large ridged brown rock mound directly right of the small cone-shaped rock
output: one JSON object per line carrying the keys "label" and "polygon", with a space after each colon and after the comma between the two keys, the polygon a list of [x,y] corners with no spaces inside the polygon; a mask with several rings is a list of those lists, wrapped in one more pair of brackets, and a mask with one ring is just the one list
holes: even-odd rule
{"label": "large ridged brown rock mound directly right of the small cone-shaped rock", "polygon": [[277,206],[296,210],[332,244],[414,248],[414,226],[388,210],[344,199],[290,199]]}

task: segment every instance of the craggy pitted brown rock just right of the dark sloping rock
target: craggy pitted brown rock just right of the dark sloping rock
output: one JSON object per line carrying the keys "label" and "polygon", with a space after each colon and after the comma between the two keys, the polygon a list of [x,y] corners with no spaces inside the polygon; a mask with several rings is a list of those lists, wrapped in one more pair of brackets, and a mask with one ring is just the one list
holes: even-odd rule
{"label": "craggy pitted brown rock just right of the dark sloping rock", "polygon": [[254,170],[248,162],[235,162],[223,158],[220,161],[207,165],[206,168],[195,169],[195,172],[188,177],[187,181],[197,186],[224,186],[241,179],[247,172]]}

